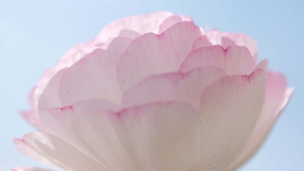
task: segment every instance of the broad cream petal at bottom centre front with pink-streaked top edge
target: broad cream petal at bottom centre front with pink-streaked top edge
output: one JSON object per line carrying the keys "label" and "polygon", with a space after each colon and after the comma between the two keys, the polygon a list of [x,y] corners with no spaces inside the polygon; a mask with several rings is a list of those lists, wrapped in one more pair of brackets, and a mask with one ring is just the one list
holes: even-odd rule
{"label": "broad cream petal at bottom centre front with pink-streaked top edge", "polygon": [[195,169],[197,112],[184,103],[157,103],[81,115],[74,134],[110,170]]}

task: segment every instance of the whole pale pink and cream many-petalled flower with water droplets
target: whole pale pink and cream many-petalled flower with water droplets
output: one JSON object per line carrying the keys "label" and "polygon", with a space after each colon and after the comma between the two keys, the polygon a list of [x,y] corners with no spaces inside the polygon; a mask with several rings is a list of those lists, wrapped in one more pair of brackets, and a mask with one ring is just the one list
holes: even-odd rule
{"label": "whole pale pink and cream many-petalled flower with water droplets", "polygon": [[185,15],[118,19],[47,70],[22,113],[42,132],[14,143],[64,170],[235,170],[293,91],[257,52]]}

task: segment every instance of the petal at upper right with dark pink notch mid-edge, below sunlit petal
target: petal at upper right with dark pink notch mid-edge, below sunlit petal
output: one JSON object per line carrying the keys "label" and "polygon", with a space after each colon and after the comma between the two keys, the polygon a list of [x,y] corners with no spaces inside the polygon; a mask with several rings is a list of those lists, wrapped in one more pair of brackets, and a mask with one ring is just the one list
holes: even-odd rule
{"label": "petal at upper right with dark pink notch mid-edge, below sunlit petal", "polygon": [[187,72],[198,67],[223,68],[228,75],[249,75],[255,68],[254,61],[244,46],[228,46],[224,49],[220,45],[201,47],[188,54],[181,63],[180,71]]}

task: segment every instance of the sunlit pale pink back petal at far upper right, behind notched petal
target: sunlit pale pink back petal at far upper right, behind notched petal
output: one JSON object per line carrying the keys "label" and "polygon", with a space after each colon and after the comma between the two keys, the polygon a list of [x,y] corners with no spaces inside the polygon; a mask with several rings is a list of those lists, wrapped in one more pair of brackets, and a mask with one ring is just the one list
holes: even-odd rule
{"label": "sunlit pale pink back petal at far upper right, behind notched petal", "polygon": [[[230,33],[230,32],[219,32],[219,31],[209,31],[206,33],[206,37],[208,38],[208,42],[212,45],[221,45],[224,49],[228,46],[238,45],[245,46],[251,53],[253,60],[257,63],[258,58],[258,48],[257,43],[251,37],[239,34],[239,33]],[[203,38],[203,40],[206,40]],[[206,46],[207,41],[196,41],[195,45],[193,45],[194,49],[198,49],[199,47]]]}

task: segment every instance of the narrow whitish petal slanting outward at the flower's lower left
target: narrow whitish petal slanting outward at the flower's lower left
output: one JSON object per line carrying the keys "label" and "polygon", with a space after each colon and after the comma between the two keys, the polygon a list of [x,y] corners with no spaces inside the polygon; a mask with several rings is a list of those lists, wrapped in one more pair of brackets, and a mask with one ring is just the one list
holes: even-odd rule
{"label": "narrow whitish petal slanting outward at the flower's lower left", "polygon": [[29,148],[64,170],[104,170],[103,166],[54,135],[33,132],[23,136]]}

